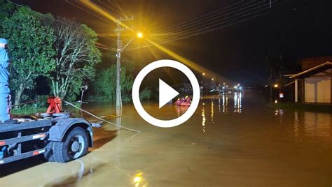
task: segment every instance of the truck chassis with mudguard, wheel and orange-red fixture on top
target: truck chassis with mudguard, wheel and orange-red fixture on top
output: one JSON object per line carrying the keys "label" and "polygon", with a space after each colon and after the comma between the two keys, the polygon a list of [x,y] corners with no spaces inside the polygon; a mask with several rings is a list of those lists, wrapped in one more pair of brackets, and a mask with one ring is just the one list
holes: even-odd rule
{"label": "truck chassis with mudguard, wheel and orange-red fixture on top", "polygon": [[0,165],[40,154],[50,162],[67,163],[88,153],[92,127],[102,125],[61,112],[60,98],[49,98],[48,103],[46,113],[0,124]]}

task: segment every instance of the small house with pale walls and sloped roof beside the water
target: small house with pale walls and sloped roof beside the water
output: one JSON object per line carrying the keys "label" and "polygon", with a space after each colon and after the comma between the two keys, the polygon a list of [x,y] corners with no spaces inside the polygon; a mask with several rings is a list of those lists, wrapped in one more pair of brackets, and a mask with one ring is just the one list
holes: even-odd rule
{"label": "small house with pale walls and sloped roof beside the water", "polygon": [[332,104],[332,57],[302,59],[302,71],[285,75],[293,81],[294,101],[296,103]]}

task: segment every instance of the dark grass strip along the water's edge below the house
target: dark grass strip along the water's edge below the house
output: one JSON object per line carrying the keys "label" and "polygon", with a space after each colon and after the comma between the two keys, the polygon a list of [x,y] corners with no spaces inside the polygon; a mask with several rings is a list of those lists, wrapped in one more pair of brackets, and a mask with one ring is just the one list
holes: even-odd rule
{"label": "dark grass strip along the water's edge below the house", "polygon": [[328,112],[332,113],[332,105],[324,104],[305,104],[305,103],[277,103],[271,104],[275,109],[301,110],[308,112]]}

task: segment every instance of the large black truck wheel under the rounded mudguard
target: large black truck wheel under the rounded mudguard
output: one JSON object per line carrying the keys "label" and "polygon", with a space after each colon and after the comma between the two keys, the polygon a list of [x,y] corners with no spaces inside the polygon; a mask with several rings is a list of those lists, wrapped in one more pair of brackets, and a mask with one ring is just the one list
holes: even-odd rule
{"label": "large black truck wheel under the rounded mudguard", "polygon": [[88,153],[89,137],[81,127],[71,129],[62,142],[53,142],[53,156],[57,163],[67,163]]}

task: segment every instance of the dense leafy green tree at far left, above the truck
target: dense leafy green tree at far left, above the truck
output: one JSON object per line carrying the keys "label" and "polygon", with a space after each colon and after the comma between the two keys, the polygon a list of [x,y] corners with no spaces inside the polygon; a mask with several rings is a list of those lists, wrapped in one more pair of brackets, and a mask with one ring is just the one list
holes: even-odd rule
{"label": "dense leafy green tree at far left, above the truck", "polygon": [[34,79],[55,69],[53,29],[41,24],[40,15],[26,7],[18,8],[4,20],[1,36],[9,40],[12,68],[11,89],[15,105],[25,89],[34,87]]}

